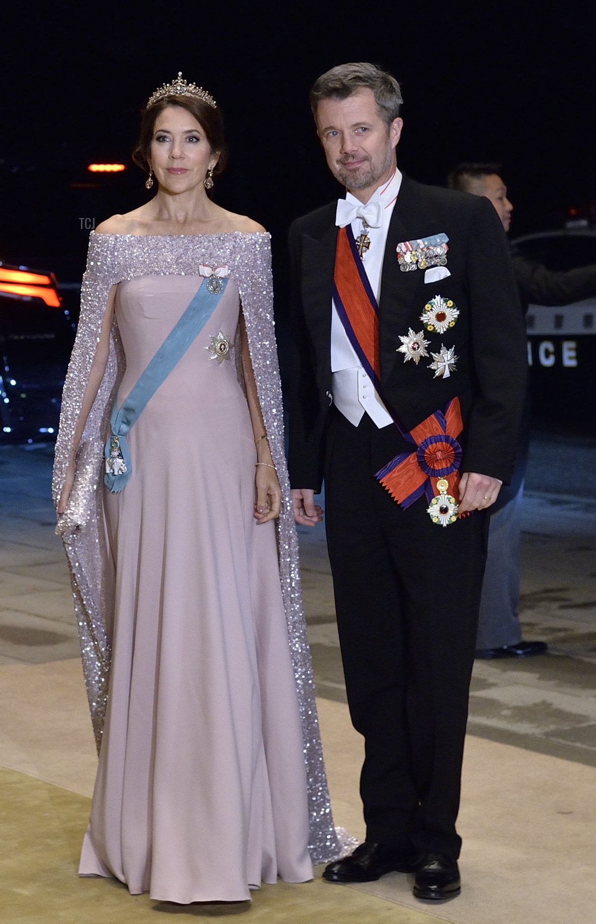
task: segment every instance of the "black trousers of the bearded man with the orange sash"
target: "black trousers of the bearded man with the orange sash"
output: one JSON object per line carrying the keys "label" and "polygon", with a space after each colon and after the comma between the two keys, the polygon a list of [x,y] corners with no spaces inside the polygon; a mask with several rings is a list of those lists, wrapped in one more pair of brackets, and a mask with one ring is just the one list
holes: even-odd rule
{"label": "black trousers of the bearded man with the orange sash", "polygon": [[487,517],[443,528],[424,498],[402,510],[374,479],[410,449],[392,425],[337,410],[325,519],[367,839],[458,857],[461,764]]}

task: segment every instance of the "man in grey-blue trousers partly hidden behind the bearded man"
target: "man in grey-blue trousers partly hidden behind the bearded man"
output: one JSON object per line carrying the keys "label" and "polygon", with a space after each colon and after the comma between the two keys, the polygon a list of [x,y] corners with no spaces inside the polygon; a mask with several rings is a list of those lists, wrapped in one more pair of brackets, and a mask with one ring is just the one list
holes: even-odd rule
{"label": "man in grey-blue trousers partly hidden behind the bearded man", "polygon": [[[447,186],[490,200],[505,231],[509,230],[513,205],[507,199],[500,164],[458,164],[447,177]],[[511,248],[511,259],[524,310],[528,310],[529,304],[568,305],[580,298],[596,295],[596,264],[556,272],[539,261],[528,260],[515,245]],[[528,447],[527,400],[513,480],[501,489],[491,507],[488,554],[480,598],[477,658],[527,658],[547,650],[543,641],[521,638],[518,616],[521,500]]]}

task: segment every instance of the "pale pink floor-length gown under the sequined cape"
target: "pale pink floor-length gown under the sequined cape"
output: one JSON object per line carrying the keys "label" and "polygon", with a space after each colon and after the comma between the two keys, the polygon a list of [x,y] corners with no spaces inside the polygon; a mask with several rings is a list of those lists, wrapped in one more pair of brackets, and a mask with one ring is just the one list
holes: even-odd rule
{"label": "pale pink floor-length gown under the sequined cape", "polygon": [[[128,395],[201,284],[121,283]],[[133,472],[105,492],[113,660],[79,873],[187,904],[312,878],[298,698],[274,523],[253,518],[256,450],[223,297],[128,434]],[[105,489],[103,489],[105,490]]]}

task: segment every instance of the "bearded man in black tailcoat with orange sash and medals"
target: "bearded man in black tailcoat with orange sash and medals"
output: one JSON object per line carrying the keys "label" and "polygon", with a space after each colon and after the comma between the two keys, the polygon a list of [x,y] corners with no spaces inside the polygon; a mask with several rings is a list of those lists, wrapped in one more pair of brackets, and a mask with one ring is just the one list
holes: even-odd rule
{"label": "bearded man in black tailcoat with orange sash and medals", "polygon": [[460,891],[456,833],[485,511],[513,470],[526,376],[503,227],[487,200],[396,167],[402,103],[371,64],[310,102],[346,198],[290,230],[289,471],[297,522],[325,482],[366,841],[331,881],[415,871]]}

